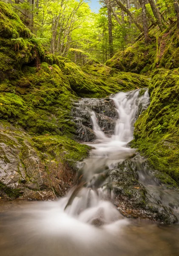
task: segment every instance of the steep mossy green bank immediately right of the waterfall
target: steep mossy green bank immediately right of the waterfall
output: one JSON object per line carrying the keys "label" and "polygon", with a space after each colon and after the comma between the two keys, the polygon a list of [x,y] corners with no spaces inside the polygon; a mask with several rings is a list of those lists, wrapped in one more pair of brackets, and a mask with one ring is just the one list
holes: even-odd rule
{"label": "steep mossy green bank immediately right of the waterfall", "polygon": [[[157,69],[149,86],[151,105],[135,124],[133,146],[148,157],[156,178],[179,185],[179,69]],[[167,174],[167,175],[164,175]]]}

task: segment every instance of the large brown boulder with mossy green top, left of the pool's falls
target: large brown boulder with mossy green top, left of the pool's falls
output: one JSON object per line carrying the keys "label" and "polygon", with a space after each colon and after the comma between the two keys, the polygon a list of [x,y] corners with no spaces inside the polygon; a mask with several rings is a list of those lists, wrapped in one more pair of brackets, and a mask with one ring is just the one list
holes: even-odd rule
{"label": "large brown boulder with mossy green top, left of the pool's falls", "polygon": [[22,128],[0,125],[0,196],[48,200],[65,195],[89,147],[65,136],[31,137]]}

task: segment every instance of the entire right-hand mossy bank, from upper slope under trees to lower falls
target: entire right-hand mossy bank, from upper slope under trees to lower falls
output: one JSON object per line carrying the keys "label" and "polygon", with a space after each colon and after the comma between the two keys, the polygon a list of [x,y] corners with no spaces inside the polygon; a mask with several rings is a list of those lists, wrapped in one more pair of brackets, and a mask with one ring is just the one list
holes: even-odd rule
{"label": "entire right-hand mossy bank, from upper slope under trees to lower falls", "polygon": [[106,64],[120,71],[149,75],[151,104],[135,124],[133,147],[147,159],[159,183],[179,188],[179,31],[173,21],[163,32],[150,31]]}

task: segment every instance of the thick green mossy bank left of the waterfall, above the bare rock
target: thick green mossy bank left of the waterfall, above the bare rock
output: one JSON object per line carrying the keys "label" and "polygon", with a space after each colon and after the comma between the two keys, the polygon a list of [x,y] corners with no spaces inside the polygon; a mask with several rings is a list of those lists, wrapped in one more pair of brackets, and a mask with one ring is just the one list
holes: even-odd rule
{"label": "thick green mossy bank left of the waterfall, above the bare rock", "polygon": [[31,135],[73,134],[71,104],[79,96],[105,97],[148,85],[146,77],[93,61],[81,69],[48,53],[9,5],[0,2],[0,14],[0,118]]}

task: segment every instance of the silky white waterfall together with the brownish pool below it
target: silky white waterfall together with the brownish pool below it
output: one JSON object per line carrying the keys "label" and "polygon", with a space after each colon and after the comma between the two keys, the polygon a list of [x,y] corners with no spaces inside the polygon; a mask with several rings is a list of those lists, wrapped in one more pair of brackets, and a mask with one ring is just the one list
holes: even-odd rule
{"label": "silky white waterfall together with the brownish pool below it", "polygon": [[[89,144],[91,155],[66,197],[52,202],[1,203],[1,256],[179,255],[178,225],[130,220],[112,204],[109,174],[134,155],[128,143],[133,139],[138,107],[149,102],[147,91],[141,98],[138,95],[135,90],[113,97],[119,118],[111,137],[99,127],[96,113],[88,110],[97,140]],[[139,179],[148,187],[145,177],[145,172],[139,172]],[[149,180],[157,186],[151,176]],[[152,200],[151,191],[148,189]]]}

